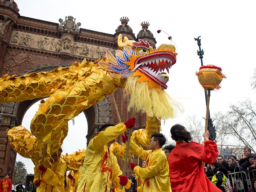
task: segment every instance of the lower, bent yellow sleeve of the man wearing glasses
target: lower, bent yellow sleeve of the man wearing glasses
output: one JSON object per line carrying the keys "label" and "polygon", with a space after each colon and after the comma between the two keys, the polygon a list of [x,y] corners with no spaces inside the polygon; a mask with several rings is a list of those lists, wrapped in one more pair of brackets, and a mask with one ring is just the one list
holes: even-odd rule
{"label": "lower, bent yellow sleeve of the man wearing glasses", "polygon": [[[166,158],[166,157],[165,157]],[[162,154],[156,154],[156,156],[151,160],[151,164],[148,167],[141,168],[140,166],[136,166],[133,169],[133,172],[138,175],[140,178],[151,178],[154,177],[161,169],[161,165],[166,164],[164,161],[164,156]]]}

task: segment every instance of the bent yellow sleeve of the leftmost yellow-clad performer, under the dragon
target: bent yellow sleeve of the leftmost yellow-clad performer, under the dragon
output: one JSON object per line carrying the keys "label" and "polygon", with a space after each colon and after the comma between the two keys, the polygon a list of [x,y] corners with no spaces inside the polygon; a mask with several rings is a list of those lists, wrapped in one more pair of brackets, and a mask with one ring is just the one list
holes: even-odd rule
{"label": "bent yellow sleeve of the leftmost yellow-clad performer, under the dragon", "polygon": [[48,185],[60,185],[64,180],[64,175],[67,170],[67,164],[65,162],[60,163],[57,166],[57,169],[55,172],[53,172],[49,167],[47,167],[46,172],[44,173],[42,179],[48,184]]}

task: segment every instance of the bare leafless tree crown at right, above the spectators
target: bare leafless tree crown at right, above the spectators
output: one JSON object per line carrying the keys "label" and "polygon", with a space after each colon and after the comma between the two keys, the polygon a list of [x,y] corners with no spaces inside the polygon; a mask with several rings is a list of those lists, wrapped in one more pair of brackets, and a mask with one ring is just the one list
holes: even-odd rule
{"label": "bare leafless tree crown at right, above the spectators", "polygon": [[228,135],[236,138],[255,153],[253,147],[256,144],[256,108],[251,100],[231,105],[227,113],[216,113],[214,124],[223,137]]}

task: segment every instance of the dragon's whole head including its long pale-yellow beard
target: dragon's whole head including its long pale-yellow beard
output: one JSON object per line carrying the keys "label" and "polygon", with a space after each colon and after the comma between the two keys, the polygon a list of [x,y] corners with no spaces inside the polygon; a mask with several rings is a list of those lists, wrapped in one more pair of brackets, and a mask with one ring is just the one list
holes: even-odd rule
{"label": "dragon's whole head including its long pale-yellow beard", "polygon": [[[176,62],[175,47],[162,44],[155,50],[143,40],[132,41],[122,34],[118,36],[116,57],[106,49],[106,59],[98,62],[105,70],[126,78],[124,91],[130,93],[128,109],[141,110],[149,116],[169,118],[176,116],[180,104],[166,93],[169,78],[164,72]],[[180,110],[182,111],[182,110]]]}

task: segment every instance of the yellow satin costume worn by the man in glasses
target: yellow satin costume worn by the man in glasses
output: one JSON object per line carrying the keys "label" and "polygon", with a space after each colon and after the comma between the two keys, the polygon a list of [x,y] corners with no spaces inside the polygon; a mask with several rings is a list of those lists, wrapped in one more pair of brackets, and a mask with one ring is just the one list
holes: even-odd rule
{"label": "yellow satin costume worn by the man in glasses", "polygon": [[133,169],[133,172],[144,180],[141,191],[172,191],[168,162],[162,148],[155,149],[154,151],[144,150],[131,140],[130,149],[138,157],[146,160],[145,168],[136,166]]}

